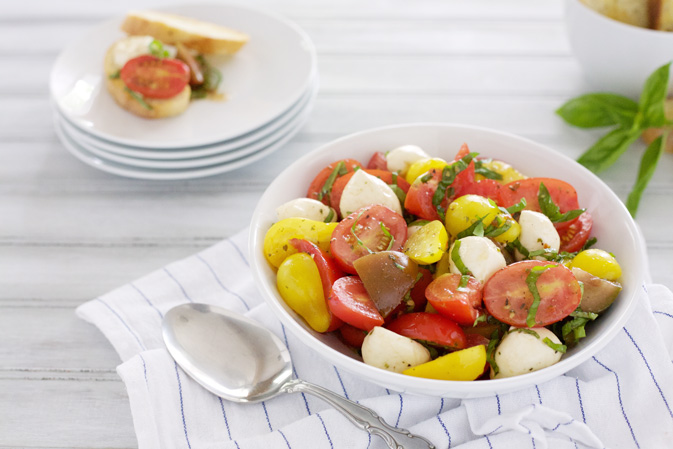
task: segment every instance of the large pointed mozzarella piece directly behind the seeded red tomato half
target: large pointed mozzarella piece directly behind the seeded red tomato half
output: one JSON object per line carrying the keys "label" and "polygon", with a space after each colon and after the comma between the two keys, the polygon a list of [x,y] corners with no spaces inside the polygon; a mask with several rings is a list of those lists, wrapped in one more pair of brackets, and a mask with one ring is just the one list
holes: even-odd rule
{"label": "large pointed mozzarella piece directly behind the seeded red tomato half", "polygon": [[347,216],[361,207],[372,204],[381,204],[402,215],[400,200],[388,184],[372,176],[364,170],[357,170],[346,184],[339,210],[342,216]]}

